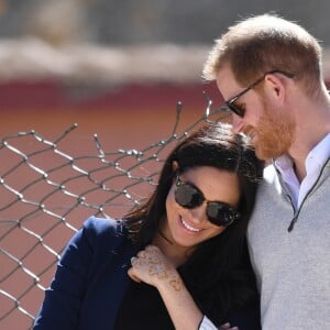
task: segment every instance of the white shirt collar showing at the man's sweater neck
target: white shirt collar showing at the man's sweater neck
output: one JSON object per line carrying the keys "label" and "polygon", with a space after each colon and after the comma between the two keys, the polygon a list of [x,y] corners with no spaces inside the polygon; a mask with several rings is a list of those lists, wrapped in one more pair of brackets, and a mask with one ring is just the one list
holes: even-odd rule
{"label": "white shirt collar showing at the man's sweater neck", "polygon": [[293,202],[299,208],[304,197],[317,180],[324,163],[330,157],[330,133],[321,140],[307,155],[306,158],[306,177],[301,185],[298,182],[294,170],[293,161],[289,156],[283,155],[275,160],[275,165],[282,174],[282,177],[289,189]]}

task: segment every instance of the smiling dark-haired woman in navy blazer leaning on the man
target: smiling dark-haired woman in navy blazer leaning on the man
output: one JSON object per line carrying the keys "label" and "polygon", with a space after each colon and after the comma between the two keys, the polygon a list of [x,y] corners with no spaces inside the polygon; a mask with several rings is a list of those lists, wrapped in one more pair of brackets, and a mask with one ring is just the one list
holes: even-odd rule
{"label": "smiling dark-haired woman in navy blazer leaning on the man", "polygon": [[145,204],[72,239],[34,329],[197,329],[204,315],[258,329],[245,230],[262,165],[228,124],[180,142]]}

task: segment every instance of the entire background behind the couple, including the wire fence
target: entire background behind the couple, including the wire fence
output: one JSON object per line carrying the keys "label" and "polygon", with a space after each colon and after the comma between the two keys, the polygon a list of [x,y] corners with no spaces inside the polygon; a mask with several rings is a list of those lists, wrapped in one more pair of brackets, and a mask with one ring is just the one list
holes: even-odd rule
{"label": "entire background behind the couple, including the wire fence", "polygon": [[0,0],[0,329],[31,328],[86,217],[120,217],[146,196],[150,184],[130,190],[132,173],[153,178],[202,118],[205,92],[221,105],[200,78],[215,38],[277,13],[321,42],[328,82],[329,10],[329,0]]}

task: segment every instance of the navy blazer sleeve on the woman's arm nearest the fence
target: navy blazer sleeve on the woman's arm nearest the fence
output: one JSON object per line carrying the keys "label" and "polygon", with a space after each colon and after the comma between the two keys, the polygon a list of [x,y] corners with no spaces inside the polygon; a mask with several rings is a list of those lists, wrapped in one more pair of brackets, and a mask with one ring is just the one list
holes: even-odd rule
{"label": "navy blazer sleeve on the woman's arm nearest the fence", "polygon": [[[34,330],[73,330],[78,328],[99,235],[109,229],[109,219],[89,218],[69,241],[57,264],[51,287],[34,322]],[[114,222],[114,221],[112,221]]]}

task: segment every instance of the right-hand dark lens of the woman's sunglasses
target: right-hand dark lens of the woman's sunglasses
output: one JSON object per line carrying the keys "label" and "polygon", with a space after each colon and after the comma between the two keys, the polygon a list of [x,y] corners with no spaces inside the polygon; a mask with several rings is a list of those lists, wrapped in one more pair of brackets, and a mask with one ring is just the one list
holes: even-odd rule
{"label": "right-hand dark lens of the woman's sunglasses", "polygon": [[229,226],[239,218],[239,213],[228,205],[219,201],[209,201],[207,216],[210,222],[216,226]]}

